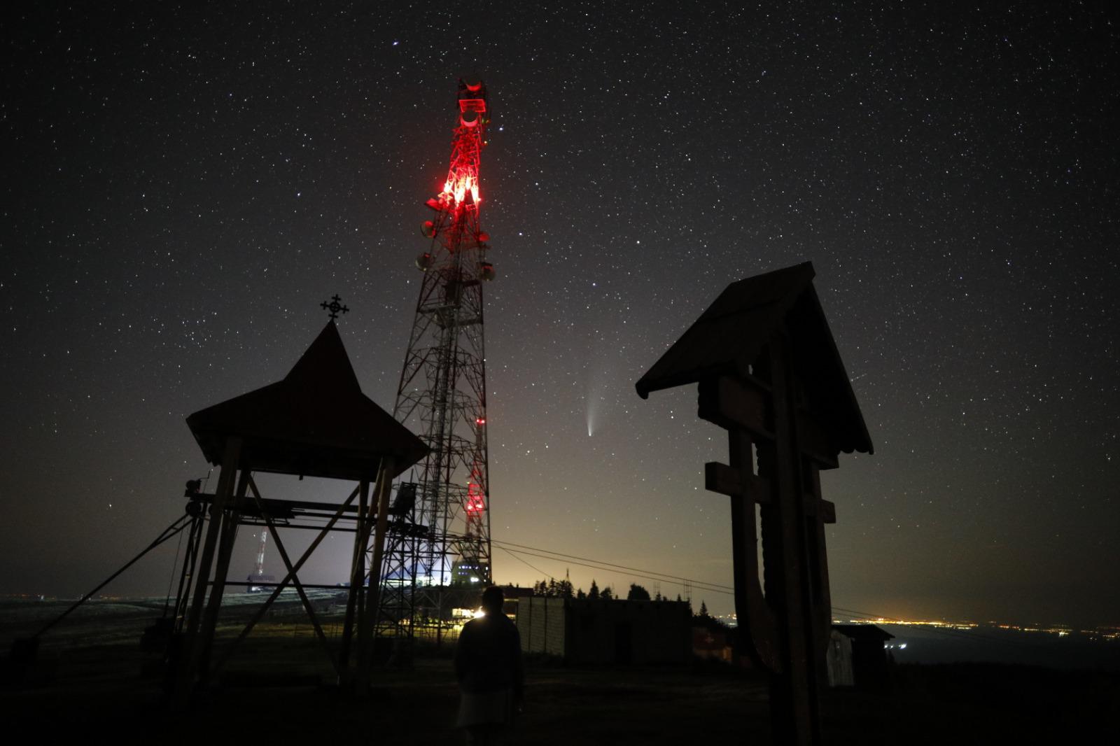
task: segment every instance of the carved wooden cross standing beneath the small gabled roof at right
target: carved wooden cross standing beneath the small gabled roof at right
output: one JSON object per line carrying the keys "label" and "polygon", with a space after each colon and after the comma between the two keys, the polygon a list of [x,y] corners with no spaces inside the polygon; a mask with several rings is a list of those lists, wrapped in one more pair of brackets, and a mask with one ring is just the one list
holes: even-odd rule
{"label": "carved wooden cross standing beneath the small gabled roof at right", "polygon": [[704,465],[704,486],[731,498],[740,642],[771,674],[775,733],[792,736],[790,743],[816,744],[820,661],[831,631],[824,523],[836,522],[836,506],[821,498],[818,472],[834,457],[816,447],[820,428],[799,408],[781,338],[758,364],[764,375],[700,380],[698,413],[728,431],[730,457],[729,465]]}

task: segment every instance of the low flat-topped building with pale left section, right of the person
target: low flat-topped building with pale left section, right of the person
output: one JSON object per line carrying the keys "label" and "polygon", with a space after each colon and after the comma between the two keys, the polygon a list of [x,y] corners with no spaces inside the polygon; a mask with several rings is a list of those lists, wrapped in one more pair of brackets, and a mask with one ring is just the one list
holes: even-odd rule
{"label": "low flat-topped building with pale left section, right of the person", "polygon": [[692,658],[687,602],[523,596],[521,649],[567,663],[684,663]]}

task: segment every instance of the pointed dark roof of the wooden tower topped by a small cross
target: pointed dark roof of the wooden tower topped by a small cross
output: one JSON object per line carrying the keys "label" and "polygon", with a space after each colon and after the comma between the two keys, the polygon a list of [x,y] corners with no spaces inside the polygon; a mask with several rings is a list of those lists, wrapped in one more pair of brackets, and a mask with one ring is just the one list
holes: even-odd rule
{"label": "pointed dark roof of the wooden tower topped by a small cross", "polygon": [[187,425],[206,460],[221,464],[239,436],[242,468],[339,479],[373,479],[382,456],[394,475],[427,446],[362,393],[335,323],[328,321],[282,381],[199,410]]}

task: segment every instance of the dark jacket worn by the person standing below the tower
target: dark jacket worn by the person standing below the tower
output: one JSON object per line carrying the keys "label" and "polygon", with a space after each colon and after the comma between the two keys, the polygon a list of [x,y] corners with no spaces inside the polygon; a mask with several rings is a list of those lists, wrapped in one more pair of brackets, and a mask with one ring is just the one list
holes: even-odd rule
{"label": "dark jacket worn by the person standing below the tower", "polygon": [[513,689],[521,696],[521,635],[510,617],[487,614],[463,625],[455,649],[455,675],[464,691]]}

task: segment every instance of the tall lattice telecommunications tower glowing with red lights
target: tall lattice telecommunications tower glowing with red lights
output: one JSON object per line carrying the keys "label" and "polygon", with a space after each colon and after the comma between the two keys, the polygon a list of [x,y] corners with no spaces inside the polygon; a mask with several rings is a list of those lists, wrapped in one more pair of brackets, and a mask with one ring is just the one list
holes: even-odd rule
{"label": "tall lattice telecommunications tower glowing with red lights", "polygon": [[452,608],[491,581],[489,474],[483,282],[489,236],[478,223],[478,165],[486,144],[486,86],[459,81],[458,122],[442,190],[428,199],[431,241],[393,416],[430,448],[393,502],[376,622],[379,635],[437,640]]}

